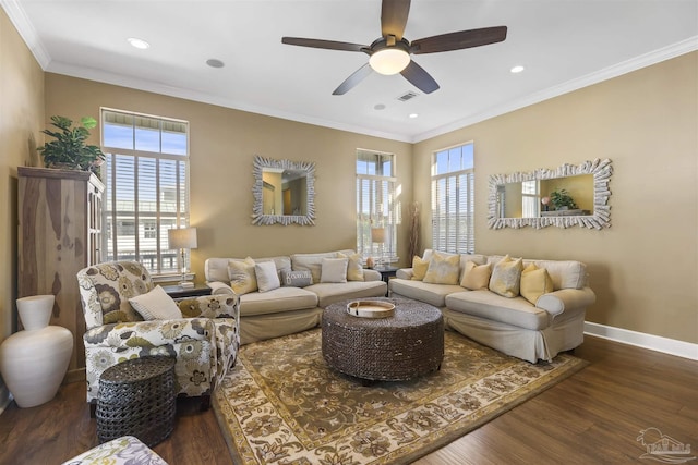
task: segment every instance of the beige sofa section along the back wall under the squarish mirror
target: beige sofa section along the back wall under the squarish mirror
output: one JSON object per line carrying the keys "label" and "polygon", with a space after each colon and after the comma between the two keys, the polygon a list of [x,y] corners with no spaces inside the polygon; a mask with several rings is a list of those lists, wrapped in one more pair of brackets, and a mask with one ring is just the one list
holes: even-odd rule
{"label": "beige sofa section along the back wall under the squarish mirror", "polygon": [[[323,268],[323,265],[332,261],[324,259],[345,258],[345,282],[341,282],[340,276],[328,279],[329,272],[323,276],[323,270],[328,270]],[[241,262],[252,260],[258,266],[274,262],[274,268],[279,274],[278,287],[264,291],[255,289],[251,292],[241,292],[240,287],[237,287],[237,293],[240,294],[240,342],[249,344],[314,328],[321,322],[323,309],[336,302],[385,296],[387,284],[381,279],[381,273],[362,269],[357,259],[353,250],[337,250],[264,258],[208,258],[204,268],[206,282],[214,293],[225,293],[233,292],[231,272],[234,278],[233,269],[244,268]],[[312,284],[304,285],[308,281],[303,279],[294,283],[293,280],[299,276],[309,278],[308,281],[312,279]]]}

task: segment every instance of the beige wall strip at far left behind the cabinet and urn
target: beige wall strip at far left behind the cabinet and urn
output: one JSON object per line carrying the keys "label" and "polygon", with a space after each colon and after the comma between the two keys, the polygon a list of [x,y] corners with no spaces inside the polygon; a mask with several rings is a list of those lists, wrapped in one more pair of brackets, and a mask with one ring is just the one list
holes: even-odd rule
{"label": "beige wall strip at far left behind the cabinet and urn", "polygon": [[[38,160],[44,72],[0,9],[0,341],[16,325],[17,166]],[[0,381],[0,407],[8,399]]]}

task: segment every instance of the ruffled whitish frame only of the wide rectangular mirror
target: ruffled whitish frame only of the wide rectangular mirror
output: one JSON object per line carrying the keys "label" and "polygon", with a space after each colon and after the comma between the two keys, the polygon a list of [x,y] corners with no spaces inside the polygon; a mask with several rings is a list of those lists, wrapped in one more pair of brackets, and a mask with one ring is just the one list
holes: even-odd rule
{"label": "ruffled whitish frame only of the wide rectangular mirror", "polygon": [[[497,215],[497,187],[507,183],[519,183],[522,181],[552,180],[557,178],[577,176],[580,174],[593,174],[593,213],[578,217],[537,217],[537,218],[502,218]],[[609,182],[613,174],[613,166],[610,159],[588,160],[581,164],[565,163],[556,170],[545,168],[531,172],[517,172],[512,174],[493,174],[490,176],[490,194],[488,197],[489,215],[488,227],[498,230],[502,228],[524,228],[535,229],[546,227],[570,228],[581,227],[600,230],[611,228],[611,206],[609,197]]]}

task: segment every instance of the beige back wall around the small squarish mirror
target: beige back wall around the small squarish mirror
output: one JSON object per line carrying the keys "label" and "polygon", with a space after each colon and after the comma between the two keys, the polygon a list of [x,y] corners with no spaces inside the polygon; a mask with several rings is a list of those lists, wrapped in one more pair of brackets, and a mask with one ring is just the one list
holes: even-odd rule
{"label": "beige back wall around the small squarish mirror", "polygon": [[[58,74],[46,74],[46,114],[99,115],[110,107],[190,122],[192,252],[196,280],[208,257],[263,257],[356,248],[356,150],[396,154],[402,217],[412,196],[412,145],[197,103]],[[98,131],[93,132],[98,143]],[[315,162],[314,227],[252,225],[254,156]],[[400,254],[407,253],[407,230]]]}

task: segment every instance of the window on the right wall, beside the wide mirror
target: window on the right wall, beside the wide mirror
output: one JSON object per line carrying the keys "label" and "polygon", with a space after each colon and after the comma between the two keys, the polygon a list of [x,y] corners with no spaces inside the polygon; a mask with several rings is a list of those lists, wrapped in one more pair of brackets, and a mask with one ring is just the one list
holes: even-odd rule
{"label": "window on the right wall, beside the wide mirror", "polygon": [[434,154],[432,163],[432,248],[473,253],[473,144]]}

